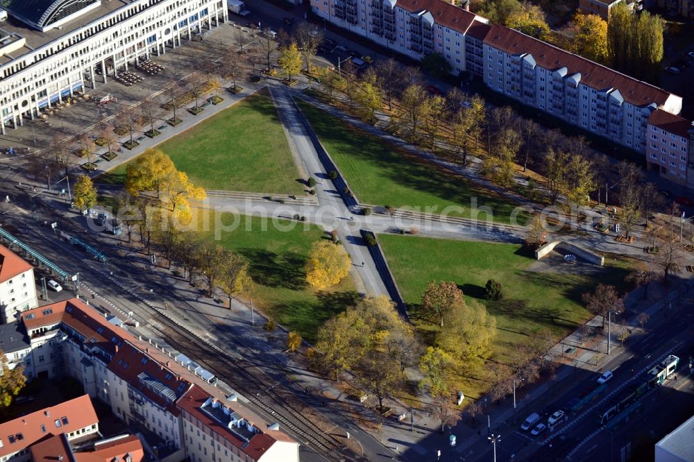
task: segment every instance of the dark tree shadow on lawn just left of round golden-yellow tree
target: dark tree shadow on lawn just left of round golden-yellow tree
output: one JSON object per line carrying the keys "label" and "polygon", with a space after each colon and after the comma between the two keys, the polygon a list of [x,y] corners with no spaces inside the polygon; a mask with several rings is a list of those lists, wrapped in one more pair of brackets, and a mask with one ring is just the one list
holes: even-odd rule
{"label": "dark tree shadow on lawn just left of round golden-yellow tree", "polygon": [[238,252],[248,260],[248,275],[253,282],[267,287],[300,291],[307,286],[303,271],[306,257],[294,252],[278,255],[269,250],[242,248]]}

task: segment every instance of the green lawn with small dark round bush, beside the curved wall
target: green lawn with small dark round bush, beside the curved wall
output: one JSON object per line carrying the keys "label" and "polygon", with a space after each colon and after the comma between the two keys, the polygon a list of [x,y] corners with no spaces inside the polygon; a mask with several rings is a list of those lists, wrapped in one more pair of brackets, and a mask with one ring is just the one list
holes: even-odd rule
{"label": "green lawn with small dark round bush, beside the curved wall", "polygon": [[[520,245],[452,241],[423,237],[380,234],[384,255],[405,298],[416,327],[425,342],[432,342],[437,327],[419,316],[420,301],[432,280],[453,281],[466,298],[484,302],[496,316],[498,333],[494,354],[484,370],[460,377],[466,395],[479,396],[494,375],[497,363],[507,363],[508,354],[518,343],[547,328],[559,340],[579,323],[591,318],[584,308],[582,294],[598,282],[615,284],[626,290],[624,278],[629,261],[607,259],[604,268],[586,275],[554,271],[529,271],[538,263],[519,251]],[[561,263],[559,263],[561,264]],[[484,300],[484,284],[489,279],[502,284],[505,297],[498,302]]]}

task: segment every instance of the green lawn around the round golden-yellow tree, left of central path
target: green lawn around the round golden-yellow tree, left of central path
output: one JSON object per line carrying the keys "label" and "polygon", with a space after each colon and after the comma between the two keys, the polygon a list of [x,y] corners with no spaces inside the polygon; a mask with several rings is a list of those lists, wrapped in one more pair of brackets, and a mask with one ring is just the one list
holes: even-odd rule
{"label": "green lawn around the round golden-yellow tree, left of central path", "polygon": [[[212,224],[215,215],[207,216],[211,217],[208,229],[220,229]],[[224,225],[234,223],[234,216],[228,213],[217,218]],[[238,216],[237,219],[237,228],[221,232],[219,242],[248,259],[254,284],[244,298],[253,299],[253,305],[276,322],[314,341],[316,330],[325,320],[358,299],[350,277],[326,291],[316,291],[307,285],[303,268],[311,244],[326,237],[321,228],[281,220],[281,227],[296,227],[278,230],[268,221],[263,230],[260,217]]]}

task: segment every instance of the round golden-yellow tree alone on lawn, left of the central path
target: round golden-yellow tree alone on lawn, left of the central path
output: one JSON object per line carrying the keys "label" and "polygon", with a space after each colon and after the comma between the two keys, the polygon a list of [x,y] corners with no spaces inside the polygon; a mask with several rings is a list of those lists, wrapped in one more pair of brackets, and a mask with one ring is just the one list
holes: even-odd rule
{"label": "round golden-yellow tree alone on lawn, left of the central path", "polygon": [[316,289],[327,289],[348,275],[351,263],[346,250],[339,244],[314,242],[306,262],[306,281]]}

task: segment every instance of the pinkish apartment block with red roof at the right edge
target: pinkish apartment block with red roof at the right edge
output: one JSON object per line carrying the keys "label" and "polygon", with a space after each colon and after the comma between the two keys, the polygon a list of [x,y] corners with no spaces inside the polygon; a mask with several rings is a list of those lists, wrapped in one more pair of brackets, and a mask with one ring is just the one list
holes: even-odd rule
{"label": "pinkish apartment block with red roof at the right edge", "polygon": [[648,118],[648,169],[672,182],[694,187],[694,122],[663,110]]}

